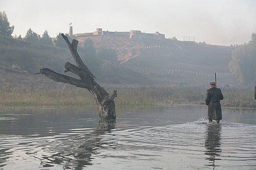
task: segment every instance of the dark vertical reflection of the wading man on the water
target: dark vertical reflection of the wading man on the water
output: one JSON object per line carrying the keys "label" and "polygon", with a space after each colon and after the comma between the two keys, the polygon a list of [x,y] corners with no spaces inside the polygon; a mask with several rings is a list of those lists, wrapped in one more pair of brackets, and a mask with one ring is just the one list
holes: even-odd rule
{"label": "dark vertical reflection of the wading man on the water", "polygon": [[217,157],[220,156],[221,148],[220,148],[220,141],[221,141],[221,124],[214,124],[210,123],[207,124],[207,134],[206,134],[206,140],[205,140],[205,155],[208,155],[208,158],[206,160],[209,160],[209,165],[206,166],[212,166],[213,170],[215,167],[215,161],[221,160]]}

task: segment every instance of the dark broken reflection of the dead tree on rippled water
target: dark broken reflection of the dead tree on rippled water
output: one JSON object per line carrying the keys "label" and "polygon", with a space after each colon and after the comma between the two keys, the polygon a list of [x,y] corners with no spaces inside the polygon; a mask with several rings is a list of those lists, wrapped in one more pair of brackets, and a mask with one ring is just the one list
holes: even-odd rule
{"label": "dark broken reflection of the dead tree on rippled water", "polygon": [[70,133],[60,134],[62,137],[66,136],[66,140],[55,139],[55,145],[45,144],[47,149],[44,148],[44,152],[52,155],[43,156],[40,165],[62,165],[61,169],[64,170],[81,170],[92,165],[92,154],[97,155],[97,150],[113,146],[109,141],[102,141],[99,136],[114,129],[114,126],[115,121],[99,121],[96,129],[70,129]]}

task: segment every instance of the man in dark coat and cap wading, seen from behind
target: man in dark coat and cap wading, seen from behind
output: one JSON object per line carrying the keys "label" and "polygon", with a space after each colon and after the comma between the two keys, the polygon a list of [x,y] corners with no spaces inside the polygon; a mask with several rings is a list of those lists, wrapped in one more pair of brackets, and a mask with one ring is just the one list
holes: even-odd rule
{"label": "man in dark coat and cap wading, seen from behind", "polygon": [[219,100],[223,100],[221,90],[215,87],[215,82],[210,82],[210,89],[207,90],[205,103],[208,106],[208,120],[219,120],[222,119],[221,106]]}

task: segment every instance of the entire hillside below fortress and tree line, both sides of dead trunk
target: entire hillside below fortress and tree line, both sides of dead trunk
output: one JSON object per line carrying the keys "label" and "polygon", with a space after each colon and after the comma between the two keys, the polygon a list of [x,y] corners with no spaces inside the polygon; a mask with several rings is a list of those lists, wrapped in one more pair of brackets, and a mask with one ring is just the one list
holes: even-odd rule
{"label": "entire hillside below fortress and tree line, both sides of dead trunk", "polygon": [[[113,35],[74,35],[83,45],[86,38],[93,40],[96,48],[110,47],[117,52],[119,63],[102,60],[91,63],[79,53],[84,63],[103,84],[118,85],[205,85],[217,73],[219,85],[234,84],[228,63],[231,48],[189,41],[150,38],[131,39]],[[12,64],[27,70],[29,76],[47,67],[64,73],[64,63],[74,63],[65,48],[29,43],[0,36],[0,73]],[[66,73],[67,75],[72,75]],[[7,75],[9,76],[9,75]],[[11,75],[15,76],[15,75]]]}

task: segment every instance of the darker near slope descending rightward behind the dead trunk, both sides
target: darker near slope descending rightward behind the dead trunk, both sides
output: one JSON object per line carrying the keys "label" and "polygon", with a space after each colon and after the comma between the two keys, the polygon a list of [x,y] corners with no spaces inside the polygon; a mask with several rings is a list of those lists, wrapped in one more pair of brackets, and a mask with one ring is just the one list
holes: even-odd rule
{"label": "darker near slope descending rightward behind the dead trunk, both sides", "polygon": [[[81,58],[85,58],[84,54],[79,53]],[[0,79],[20,81],[20,77],[28,80],[36,80],[40,75],[40,68],[49,68],[53,71],[74,76],[72,73],[64,73],[64,64],[68,61],[74,64],[70,51],[65,48],[57,48],[53,46],[45,46],[37,43],[25,42],[11,37],[0,36]],[[113,84],[150,84],[151,81],[146,76],[141,76],[136,71],[122,66],[116,65],[109,61],[101,63],[83,61],[96,77],[99,83]],[[26,70],[26,76],[16,72],[5,72],[12,64],[18,65],[22,70]],[[42,76],[41,76],[42,77]],[[43,76],[44,77],[44,76]]]}

